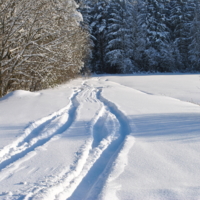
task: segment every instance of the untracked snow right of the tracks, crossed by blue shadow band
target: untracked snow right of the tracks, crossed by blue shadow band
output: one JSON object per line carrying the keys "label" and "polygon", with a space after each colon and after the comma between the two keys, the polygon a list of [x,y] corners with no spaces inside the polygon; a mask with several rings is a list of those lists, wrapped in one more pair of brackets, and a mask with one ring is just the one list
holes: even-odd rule
{"label": "untracked snow right of the tracks, crossed by blue shadow band", "polygon": [[114,182],[121,185],[118,199],[199,199],[199,106],[127,86],[103,94],[128,116],[135,138],[129,164]]}

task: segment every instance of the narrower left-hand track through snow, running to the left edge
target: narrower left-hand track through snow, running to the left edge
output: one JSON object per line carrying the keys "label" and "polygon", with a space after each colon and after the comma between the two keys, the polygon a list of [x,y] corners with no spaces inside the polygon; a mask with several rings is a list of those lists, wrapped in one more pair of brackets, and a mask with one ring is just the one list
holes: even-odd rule
{"label": "narrower left-hand track through snow, running to the left edge", "polygon": [[[11,164],[44,145],[54,136],[62,134],[71,126],[79,106],[76,100],[79,92],[73,92],[68,106],[32,123],[22,136],[0,151],[0,175]],[[0,176],[0,181],[4,178],[5,176]]]}

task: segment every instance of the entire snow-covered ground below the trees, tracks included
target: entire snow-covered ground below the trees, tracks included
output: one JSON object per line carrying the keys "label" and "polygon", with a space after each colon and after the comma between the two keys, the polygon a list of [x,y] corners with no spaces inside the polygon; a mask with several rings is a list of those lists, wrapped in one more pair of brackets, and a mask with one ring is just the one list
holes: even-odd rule
{"label": "entire snow-covered ground below the trees, tracks included", "polygon": [[95,76],[1,98],[0,199],[199,200],[200,75]]}

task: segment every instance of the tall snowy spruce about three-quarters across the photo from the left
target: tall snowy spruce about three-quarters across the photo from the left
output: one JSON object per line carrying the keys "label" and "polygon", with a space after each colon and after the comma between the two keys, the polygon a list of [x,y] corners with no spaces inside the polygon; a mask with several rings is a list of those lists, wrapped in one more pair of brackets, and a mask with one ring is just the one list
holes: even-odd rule
{"label": "tall snowy spruce about three-quarters across the photo from the left", "polygon": [[150,71],[171,71],[174,62],[164,8],[163,0],[147,1],[144,59]]}

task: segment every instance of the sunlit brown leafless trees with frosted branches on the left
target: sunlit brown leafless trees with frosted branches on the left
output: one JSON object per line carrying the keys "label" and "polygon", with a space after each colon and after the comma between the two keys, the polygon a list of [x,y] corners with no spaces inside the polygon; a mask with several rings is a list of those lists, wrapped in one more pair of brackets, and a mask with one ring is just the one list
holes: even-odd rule
{"label": "sunlit brown leafless trees with frosted branches on the left", "polygon": [[73,0],[0,0],[0,97],[77,76],[89,48],[81,20]]}

